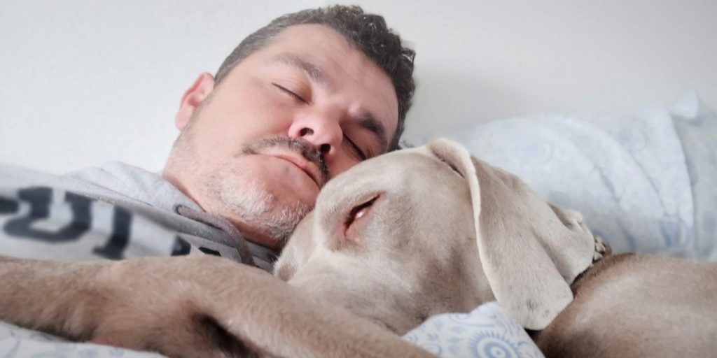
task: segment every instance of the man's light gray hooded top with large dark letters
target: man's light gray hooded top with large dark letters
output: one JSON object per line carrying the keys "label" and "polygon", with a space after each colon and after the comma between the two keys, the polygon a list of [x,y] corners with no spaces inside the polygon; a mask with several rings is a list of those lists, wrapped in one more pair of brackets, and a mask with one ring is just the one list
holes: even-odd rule
{"label": "man's light gray hooded top with large dark letters", "polygon": [[267,271],[277,256],[157,173],[116,162],[67,175],[0,165],[0,253],[67,261],[209,253]]}

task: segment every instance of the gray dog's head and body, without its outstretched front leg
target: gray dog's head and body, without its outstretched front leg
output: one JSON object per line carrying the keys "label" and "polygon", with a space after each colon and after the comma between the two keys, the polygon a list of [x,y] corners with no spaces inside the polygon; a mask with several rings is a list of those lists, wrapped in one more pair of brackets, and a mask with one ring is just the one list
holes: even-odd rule
{"label": "gray dog's head and body, without its outstretched front leg", "polygon": [[609,255],[582,217],[436,140],[320,193],[277,275],[402,334],[496,299],[548,357],[706,357],[717,264]]}

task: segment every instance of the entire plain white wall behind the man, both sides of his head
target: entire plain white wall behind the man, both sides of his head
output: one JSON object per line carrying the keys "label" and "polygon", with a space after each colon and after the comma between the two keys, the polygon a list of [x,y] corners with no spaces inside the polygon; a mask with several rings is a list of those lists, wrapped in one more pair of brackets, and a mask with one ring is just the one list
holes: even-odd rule
{"label": "entire plain white wall behind the man, both sides of his head", "polygon": [[[162,167],[202,71],[327,1],[0,0],[0,162]],[[694,90],[717,110],[717,1],[346,1],[417,51],[408,140],[538,112],[621,115]]]}

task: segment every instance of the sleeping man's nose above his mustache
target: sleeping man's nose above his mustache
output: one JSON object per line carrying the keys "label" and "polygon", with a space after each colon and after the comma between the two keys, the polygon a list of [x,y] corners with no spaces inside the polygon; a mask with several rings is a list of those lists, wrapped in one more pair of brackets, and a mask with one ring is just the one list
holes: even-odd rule
{"label": "sleeping man's nose above his mustache", "polygon": [[294,120],[289,127],[289,137],[306,140],[318,148],[324,157],[331,156],[343,140],[343,130],[338,122],[339,118],[335,115],[310,113]]}

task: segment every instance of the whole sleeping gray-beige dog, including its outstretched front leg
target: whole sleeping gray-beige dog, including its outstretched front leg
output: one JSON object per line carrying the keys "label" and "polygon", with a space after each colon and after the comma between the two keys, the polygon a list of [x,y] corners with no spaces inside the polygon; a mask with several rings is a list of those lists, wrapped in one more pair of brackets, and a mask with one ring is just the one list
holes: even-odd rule
{"label": "whole sleeping gray-beige dog, including its outstretched front leg", "polygon": [[497,300],[549,357],[717,347],[716,264],[610,256],[579,213],[447,140],[331,180],[276,272],[289,285],[209,257],[8,260],[0,319],[186,357],[422,357],[391,332]]}

